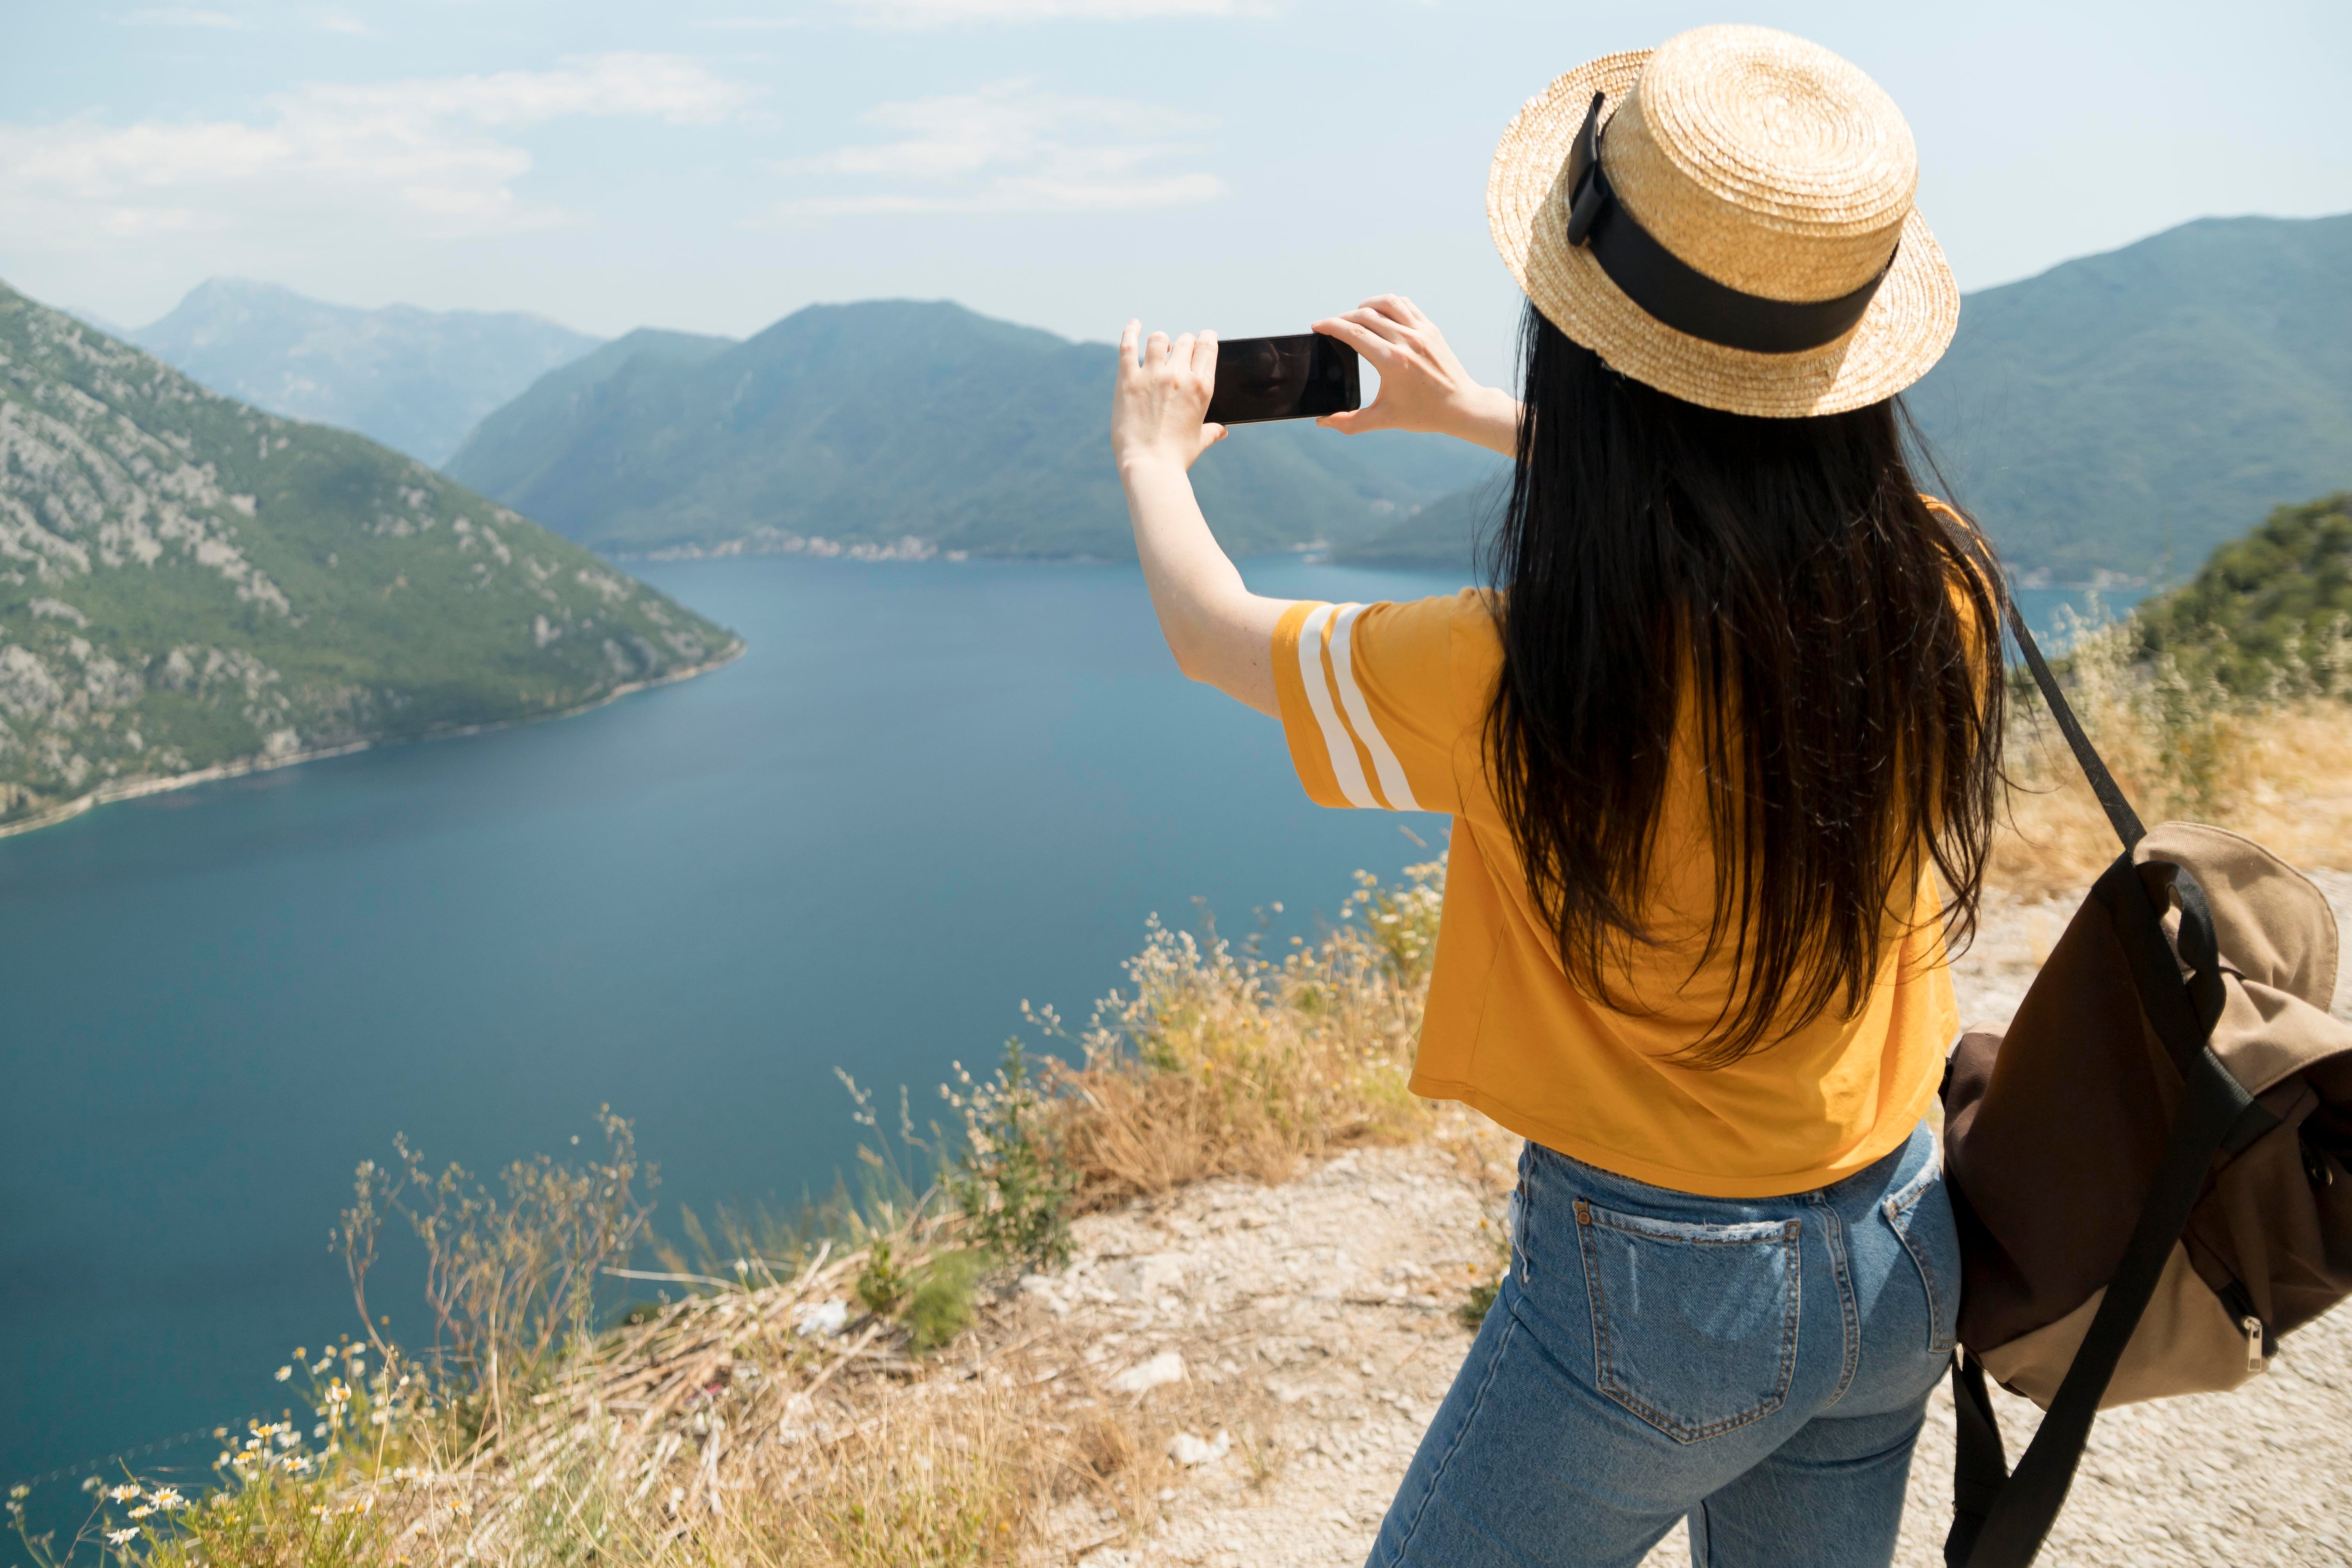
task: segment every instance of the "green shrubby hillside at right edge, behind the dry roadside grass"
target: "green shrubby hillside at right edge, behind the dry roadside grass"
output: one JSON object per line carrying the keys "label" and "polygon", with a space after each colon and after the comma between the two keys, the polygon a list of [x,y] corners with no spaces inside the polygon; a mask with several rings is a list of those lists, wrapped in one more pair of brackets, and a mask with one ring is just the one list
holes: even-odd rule
{"label": "green shrubby hillside at right edge, behind the dry roadside grass", "polygon": [[2234,691],[2260,691],[2293,661],[2317,665],[2352,628],[2352,494],[2272,510],[2138,621],[2150,651],[2211,668]]}

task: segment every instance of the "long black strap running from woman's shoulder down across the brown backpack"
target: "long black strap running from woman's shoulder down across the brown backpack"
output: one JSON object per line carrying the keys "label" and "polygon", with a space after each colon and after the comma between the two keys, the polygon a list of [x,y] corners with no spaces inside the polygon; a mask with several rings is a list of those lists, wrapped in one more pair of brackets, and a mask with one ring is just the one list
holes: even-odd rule
{"label": "long black strap running from woman's shoulder down across the brown backpack", "polygon": [[[2220,966],[2204,889],[2197,886],[2187,867],[2173,867],[2173,886],[2180,893],[2176,959],[2173,945],[2164,940],[2161,910],[2154,907],[2147,884],[2140,882],[2131,860],[2133,846],[2147,837],[2140,816],[2124,799],[2114,773],[2107,771],[2074,719],[2074,710],[2058,689],[2058,677],[2051,675],[2042,649],[2034,646],[2016,599],[2009,602],[2009,628],[2016,632],[2025,665],[2032,670],[2034,684],[2042,686],[2042,698],[2058,719],[2058,729],[2065,731],[2074,759],[2089,776],[2098,804],[2107,809],[2107,820],[2124,842],[2122,858],[2098,879],[2093,896],[2114,917],[2140,1009],[2183,1070],[2183,1095],[2124,1258],[2107,1281],[2107,1293],[2091,1316],[2091,1328],[2077,1347],[2034,1441],[2018,1458],[2016,1472],[2006,1469],[2002,1429],[1985,1392],[1985,1368],[1976,1356],[1962,1356],[1952,1368],[1959,1443],[1952,1476],[1955,1519],[1952,1533],[1943,1542],[1947,1568],[2027,1568],[2034,1561],[2074,1483],[2084,1443],[2091,1441],[2091,1425],[2098,1420],[2098,1401],[2124,1359],[2131,1333],[2140,1326],[2140,1314],[2147,1312],[2147,1302],[2157,1293],[2157,1279],[2190,1222],[2213,1157],[2225,1145],[2241,1145],[2249,1126],[2263,1119],[2263,1112],[2206,1044]],[[2194,969],[2187,980],[2180,978],[2180,959]]]}

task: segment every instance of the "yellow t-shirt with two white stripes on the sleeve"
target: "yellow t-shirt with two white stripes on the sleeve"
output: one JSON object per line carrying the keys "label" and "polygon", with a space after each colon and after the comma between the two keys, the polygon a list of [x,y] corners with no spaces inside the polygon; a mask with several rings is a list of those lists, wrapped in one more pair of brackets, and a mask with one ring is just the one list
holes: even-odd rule
{"label": "yellow t-shirt with two white stripes on the sleeve", "polygon": [[1446,903],[1414,1093],[1463,1100],[1522,1138],[1604,1171],[1708,1197],[1825,1187],[1910,1138],[1959,1030],[1936,889],[1922,872],[1853,1018],[1830,1009],[1729,1067],[1672,1060],[1722,1016],[1731,954],[1703,966],[1715,851],[1677,745],[1651,884],[1651,929],[1581,994],[1486,785],[1484,722],[1503,670],[1489,599],[1294,604],[1275,628],[1282,731],[1322,806],[1444,811]]}

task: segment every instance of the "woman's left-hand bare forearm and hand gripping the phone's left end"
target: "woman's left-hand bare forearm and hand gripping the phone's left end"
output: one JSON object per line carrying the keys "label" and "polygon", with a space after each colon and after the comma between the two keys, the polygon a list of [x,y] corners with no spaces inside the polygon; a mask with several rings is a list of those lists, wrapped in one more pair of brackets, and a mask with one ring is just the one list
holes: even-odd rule
{"label": "woman's left-hand bare forearm and hand gripping the phone's left end", "polygon": [[1275,698],[1275,623],[1289,599],[1242,585],[1242,574],[1209,534],[1192,496],[1192,461],[1225,437],[1207,425],[1216,386],[1216,334],[1188,331],[1174,343],[1143,322],[1120,334],[1120,378],[1110,393],[1110,451],[1136,524],[1143,583],[1160,632],[1190,679],[1216,686],[1263,715],[1282,717]]}

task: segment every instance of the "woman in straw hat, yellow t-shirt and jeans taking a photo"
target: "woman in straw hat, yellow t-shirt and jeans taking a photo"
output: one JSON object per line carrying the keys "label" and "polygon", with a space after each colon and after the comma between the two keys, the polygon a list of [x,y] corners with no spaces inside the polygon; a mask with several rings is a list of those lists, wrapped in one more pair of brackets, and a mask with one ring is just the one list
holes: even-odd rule
{"label": "woman in straw hat, yellow t-shirt and jeans taking a photo", "polygon": [[1957,1321],[1924,1117],[2002,733],[1999,574],[1893,402],[1959,313],[1912,188],[1893,103],[1785,33],[1534,99],[1486,190],[1522,397],[1409,301],[1315,327],[1381,374],[1322,423],[1515,458],[1491,592],[1251,595],[1185,477],[1214,339],[1120,346],[1176,661],[1279,717],[1317,802],[1456,818],[1414,1091],[1529,1140],[1374,1563],[1637,1563],[1684,1516],[1696,1563],[1893,1554]]}

